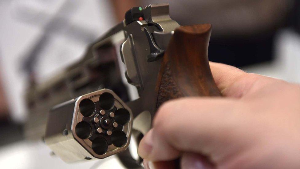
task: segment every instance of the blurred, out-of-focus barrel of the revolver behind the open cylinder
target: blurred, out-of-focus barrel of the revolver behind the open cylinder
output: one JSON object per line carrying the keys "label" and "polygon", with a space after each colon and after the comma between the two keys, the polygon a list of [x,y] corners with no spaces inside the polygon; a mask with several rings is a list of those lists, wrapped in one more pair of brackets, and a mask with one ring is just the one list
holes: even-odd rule
{"label": "blurred, out-of-focus barrel of the revolver behind the open cylinder", "polygon": [[[118,34],[118,36],[123,34]],[[124,36],[123,36],[124,37]],[[101,45],[99,45],[101,44]],[[118,95],[125,96],[127,89],[121,81],[116,61],[115,46],[99,41],[91,44],[85,56],[41,84],[32,84],[26,93],[30,111],[25,125],[27,139],[41,139],[49,110],[56,104],[76,98],[101,88],[122,89]]]}

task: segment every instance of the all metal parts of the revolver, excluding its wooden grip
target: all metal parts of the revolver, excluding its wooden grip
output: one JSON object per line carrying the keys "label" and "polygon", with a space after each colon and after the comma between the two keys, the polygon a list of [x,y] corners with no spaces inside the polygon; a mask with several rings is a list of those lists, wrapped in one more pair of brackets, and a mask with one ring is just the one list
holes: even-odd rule
{"label": "all metal parts of the revolver, excluding its wooden grip", "polygon": [[[133,133],[133,138],[139,143],[141,137],[151,127],[151,121],[156,112],[156,79],[161,64],[160,58],[163,56],[174,30],[180,26],[170,18],[167,3],[146,6],[143,8],[143,13],[145,20],[133,21],[128,25],[125,24],[125,21],[121,22],[90,45],[85,56],[79,62],[69,66],[61,74],[57,75],[54,80],[51,79],[49,82],[30,88],[27,99],[29,103],[34,103],[38,106],[30,109],[31,123],[28,124],[32,124],[32,126],[26,131],[31,132],[29,135],[35,138],[41,137],[43,131],[45,131],[45,121],[40,119],[45,119],[45,114],[47,113],[41,115],[40,112],[47,112],[50,107],[57,103],[77,98],[71,100],[68,104],[64,103],[53,107],[52,110],[58,110],[61,107],[64,107],[66,110],[60,111],[60,113],[51,111],[48,118],[45,135],[46,144],[63,160],[72,162],[81,159],[102,159],[119,153],[118,156],[125,167],[140,168],[141,159],[136,160],[132,158],[129,151],[125,149],[130,142],[132,128],[136,131]],[[113,52],[114,46],[112,44],[120,42],[122,39],[124,41],[120,46],[120,55],[126,68],[125,77],[128,83],[137,88],[139,94],[139,98],[133,101],[128,101],[125,88],[113,87],[114,85],[112,85],[120,83],[118,66],[114,64],[116,62],[116,54]],[[95,67],[100,70],[96,71]],[[79,103],[83,99],[91,99],[95,102],[99,99],[99,95],[103,93],[103,90],[97,90],[106,88],[108,86],[107,82],[111,83],[112,87],[109,87],[110,89],[119,91],[117,94],[123,96],[120,99],[113,91],[104,90],[111,93],[116,103],[119,103],[117,108],[126,107],[126,109],[131,110],[130,123],[127,127],[125,127],[126,125],[123,126],[123,131],[126,131],[125,133],[128,137],[126,145],[124,147],[109,145],[105,154],[99,155],[99,153],[97,154],[93,151],[90,139],[80,139],[78,137],[75,133],[75,127],[78,123],[85,120],[82,113],[79,113]],[[57,86],[64,87],[64,90],[54,94],[50,92],[53,97],[46,97],[45,100],[41,99],[41,96],[44,96],[45,93],[48,94],[49,91],[52,91]],[[127,103],[125,104],[122,99],[127,100]],[[71,109],[73,111],[70,111]],[[98,115],[108,115],[108,118],[116,118],[117,116],[116,112],[110,113],[105,110],[99,110]],[[122,126],[122,123],[112,123],[109,119],[98,117],[98,115],[90,120],[93,124],[100,123],[101,125],[93,129],[94,131],[91,131],[92,134],[89,137],[92,137],[94,133],[105,134],[105,137],[113,136],[113,131]],[[37,127],[36,124],[32,123],[33,121],[41,121],[41,125]],[[59,125],[56,125],[56,123]],[[112,125],[113,128],[105,128],[108,125]],[[65,135],[62,134],[63,131],[67,131]],[[84,135],[88,135],[88,133],[83,133]],[[123,152],[120,153],[121,151]]]}

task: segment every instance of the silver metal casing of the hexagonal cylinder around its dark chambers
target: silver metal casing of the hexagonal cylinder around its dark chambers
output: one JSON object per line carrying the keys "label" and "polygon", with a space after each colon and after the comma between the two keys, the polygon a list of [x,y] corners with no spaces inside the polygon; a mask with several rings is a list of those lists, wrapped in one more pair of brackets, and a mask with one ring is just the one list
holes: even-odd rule
{"label": "silver metal casing of the hexagonal cylinder around its dark chambers", "polygon": [[[92,136],[89,136],[86,139],[81,139],[78,135],[78,132],[76,131],[76,127],[79,123],[84,121],[84,116],[82,115],[79,106],[81,101],[84,99],[89,99],[94,103],[97,103],[99,97],[103,93],[112,94],[114,97],[114,106],[116,107],[116,109],[119,110],[125,108],[126,110],[128,110],[130,119],[128,123],[125,123],[123,126],[121,126],[121,130],[126,134],[126,137],[128,138],[126,144],[121,147],[116,147],[114,144],[111,144],[108,146],[108,150],[104,154],[100,155],[94,151],[92,145],[93,140],[95,140],[96,138],[103,138],[103,135],[101,135],[101,133],[104,129],[100,127],[97,129],[95,128],[95,130],[100,134],[98,134],[96,138],[91,140],[90,138]],[[97,115],[96,113],[97,111],[93,112],[91,116]],[[47,121],[45,143],[50,147],[55,155],[58,155],[65,162],[74,162],[78,160],[94,158],[103,159],[110,155],[114,155],[126,150],[130,143],[132,120],[133,117],[129,107],[127,107],[126,104],[113,91],[102,89],[53,107],[53,109],[49,113]],[[67,130],[69,134],[63,135],[63,131],[65,130]],[[118,130],[116,129],[116,131]],[[111,136],[113,132],[111,130],[108,130],[106,131],[106,134]]]}

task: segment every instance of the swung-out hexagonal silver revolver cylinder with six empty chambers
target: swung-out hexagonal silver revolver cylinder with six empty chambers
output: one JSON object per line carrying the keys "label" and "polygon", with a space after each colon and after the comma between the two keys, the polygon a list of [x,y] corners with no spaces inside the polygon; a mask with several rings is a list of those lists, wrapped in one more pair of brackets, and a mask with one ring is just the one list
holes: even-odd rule
{"label": "swung-out hexagonal silver revolver cylinder with six empty chambers", "polygon": [[65,162],[103,159],[126,150],[132,112],[111,90],[102,89],[54,106],[45,143]]}

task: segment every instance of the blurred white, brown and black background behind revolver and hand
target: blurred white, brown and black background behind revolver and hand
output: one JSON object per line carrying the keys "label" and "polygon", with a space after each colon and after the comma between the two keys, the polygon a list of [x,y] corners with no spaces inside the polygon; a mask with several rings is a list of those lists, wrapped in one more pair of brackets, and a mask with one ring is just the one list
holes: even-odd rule
{"label": "blurred white, brown and black background behind revolver and hand", "polygon": [[[79,60],[133,6],[160,0],[0,1],[0,164],[2,168],[122,168],[115,157],[66,164],[41,140],[24,139],[24,94]],[[209,59],[300,82],[300,1],[172,0],[180,25],[211,23]],[[278,89],[280,90],[280,89]]]}

